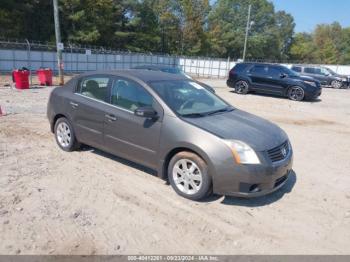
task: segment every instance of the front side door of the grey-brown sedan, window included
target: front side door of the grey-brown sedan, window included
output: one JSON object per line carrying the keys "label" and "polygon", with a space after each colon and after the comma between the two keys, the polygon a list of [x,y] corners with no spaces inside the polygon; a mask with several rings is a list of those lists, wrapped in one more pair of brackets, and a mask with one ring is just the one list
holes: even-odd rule
{"label": "front side door of the grey-brown sedan, window included", "polygon": [[[124,77],[114,78],[105,112],[104,142],[116,155],[155,168],[163,110],[153,96],[139,83]],[[157,119],[136,116],[139,107],[151,106]]]}

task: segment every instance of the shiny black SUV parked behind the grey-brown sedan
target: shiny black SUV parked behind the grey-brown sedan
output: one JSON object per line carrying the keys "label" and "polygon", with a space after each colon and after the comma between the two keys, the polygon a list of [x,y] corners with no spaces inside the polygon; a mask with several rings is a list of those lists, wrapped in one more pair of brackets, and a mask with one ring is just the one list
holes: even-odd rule
{"label": "shiny black SUV parked behind the grey-brown sedan", "polygon": [[316,99],[321,95],[319,81],[300,76],[285,66],[262,63],[239,63],[229,73],[227,85],[238,94],[249,91],[275,94],[294,101]]}

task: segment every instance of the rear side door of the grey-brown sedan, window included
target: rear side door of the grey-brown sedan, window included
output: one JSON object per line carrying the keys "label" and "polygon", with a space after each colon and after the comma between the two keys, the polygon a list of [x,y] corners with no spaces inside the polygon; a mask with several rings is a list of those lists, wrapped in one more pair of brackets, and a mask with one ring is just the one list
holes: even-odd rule
{"label": "rear side door of the grey-brown sedan, window included", "polygon": [[110,76],[86,76],[78,82],[69,101],[77,139],[84,144],[103,147],[104,112],[110,85]]}

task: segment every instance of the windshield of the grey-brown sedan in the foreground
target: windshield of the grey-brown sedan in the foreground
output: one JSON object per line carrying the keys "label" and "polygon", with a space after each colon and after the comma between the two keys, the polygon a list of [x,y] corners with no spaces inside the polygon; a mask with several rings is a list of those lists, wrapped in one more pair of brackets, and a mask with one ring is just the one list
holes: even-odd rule
{"label": "windshield of the grey-brown sedan in the foreground", "polygon": [[154,81],[149,84],[174,112],[183,117],[204,117],[233,110],[232,106],[193,81]]}

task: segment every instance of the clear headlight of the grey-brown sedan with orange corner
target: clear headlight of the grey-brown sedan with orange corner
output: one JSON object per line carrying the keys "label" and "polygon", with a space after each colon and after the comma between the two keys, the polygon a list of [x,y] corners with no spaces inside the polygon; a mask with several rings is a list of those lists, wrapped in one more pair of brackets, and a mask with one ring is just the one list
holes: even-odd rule
{"label": "clear headlight of the grey-brown sedan with orange corner", "polygon": [[255,151],[246,143],[239,140],[225,140],[238,164],[260,164]]}

